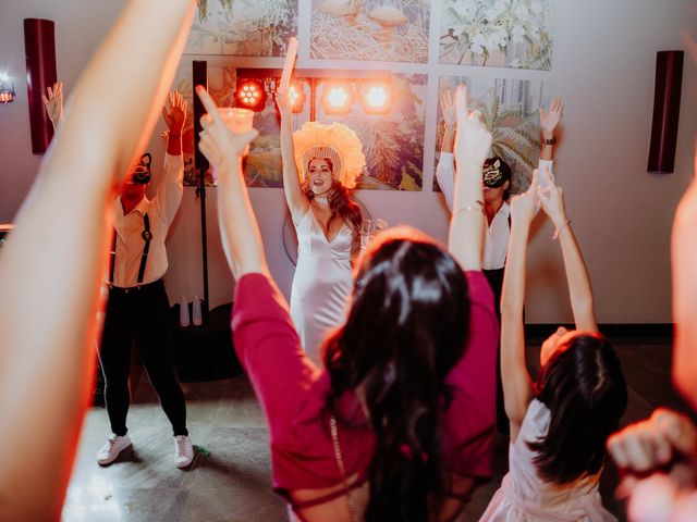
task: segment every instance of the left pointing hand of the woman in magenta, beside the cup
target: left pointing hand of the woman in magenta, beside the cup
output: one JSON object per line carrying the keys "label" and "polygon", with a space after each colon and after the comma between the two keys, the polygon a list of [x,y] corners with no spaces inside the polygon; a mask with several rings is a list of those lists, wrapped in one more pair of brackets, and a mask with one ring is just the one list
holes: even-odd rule
{"label": "left pointing hand of the woman in magenta, beside the cup", "polygon": [[236,134],[230,130],[218,112],[218,105],[210,95],[201,86],[196,87],[196,94],[204,103],[207,114],[200,119],[204,130],[200,133],[198,148],[208,159],[210,164],[223,173],[223,165],[234,164],[244,153],[245,147],[258,136],[255,128],[245,134]]}

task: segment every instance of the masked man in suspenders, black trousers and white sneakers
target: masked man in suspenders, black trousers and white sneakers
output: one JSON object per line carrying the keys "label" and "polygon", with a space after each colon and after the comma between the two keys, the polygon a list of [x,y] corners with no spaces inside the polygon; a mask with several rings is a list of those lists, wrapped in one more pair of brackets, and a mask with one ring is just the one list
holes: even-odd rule
{"label": "masked man in suspenders, black trousers and white sneakers", "polygon": [[169,108],[162,110],[162,116],[169,130],[164,173],[156,196],[151,200],[145,196],[150,182],[150,154],[146,153],[126,176],[114,200],[109,302],[99,350],[112,434],[97,456],[101,465],[113,462],[131,446],[126,414],[133,339],[137,341],[150,383],[172,423],[176,467],[185,468],[194,458],[186,430],[184,394],[174,373],[170,303],[162,279],[168,268],[164,239],[183,192],[181,134],[186,101],[179,92],[170,94]]}

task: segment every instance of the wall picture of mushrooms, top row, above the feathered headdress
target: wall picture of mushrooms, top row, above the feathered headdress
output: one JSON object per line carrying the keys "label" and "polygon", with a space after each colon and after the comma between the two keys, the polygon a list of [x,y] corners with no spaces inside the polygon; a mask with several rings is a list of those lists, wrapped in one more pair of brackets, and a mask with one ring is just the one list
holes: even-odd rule
{"label": "wall picture of mushrooms, top row, above the feathered headdress", "polygon": [[310,57],[426,63],[427,0],[313,0]]}

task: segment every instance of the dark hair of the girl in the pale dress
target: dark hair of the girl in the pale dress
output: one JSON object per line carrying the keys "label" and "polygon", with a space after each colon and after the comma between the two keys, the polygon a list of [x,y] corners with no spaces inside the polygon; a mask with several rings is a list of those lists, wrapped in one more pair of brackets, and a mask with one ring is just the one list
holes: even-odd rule
{"label": "dark hair of the girl in the pale dress", "polygon": [[549,408],[547,435],[529,442],[540,475],[557,484],[594,475],[602,468],[606,440],[627,407],[620,359],[607,337],[577,333],[558,347],[535,383]]}

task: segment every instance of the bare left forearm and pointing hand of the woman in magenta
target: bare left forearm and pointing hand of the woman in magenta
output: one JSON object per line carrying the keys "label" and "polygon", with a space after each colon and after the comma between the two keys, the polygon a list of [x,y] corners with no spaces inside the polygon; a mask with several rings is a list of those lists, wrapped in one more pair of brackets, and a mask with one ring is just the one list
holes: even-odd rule
{"label": "bare left forearm and pointing hand of the woman in magenta", "polygon": [[198,86],[196,94],[208,111],[201,119],[204,130],[198,147],[218,175],[218,222],[228,264],[235,279],[256,272],[268,276],[261,234],[242,172],[244,148],[258,133],[233,133],[206,89]]}

